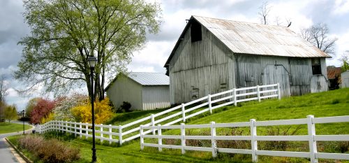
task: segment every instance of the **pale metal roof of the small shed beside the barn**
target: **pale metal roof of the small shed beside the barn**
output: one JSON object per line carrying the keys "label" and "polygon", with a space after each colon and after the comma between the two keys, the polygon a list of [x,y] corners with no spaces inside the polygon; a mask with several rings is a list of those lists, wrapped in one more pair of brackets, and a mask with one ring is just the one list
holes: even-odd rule
{"label": "pale metal roof of the small shed beside the barn", "polygon": [[131,72],[127,76],[140,85],[170,85],[170,77],[164,73]]}

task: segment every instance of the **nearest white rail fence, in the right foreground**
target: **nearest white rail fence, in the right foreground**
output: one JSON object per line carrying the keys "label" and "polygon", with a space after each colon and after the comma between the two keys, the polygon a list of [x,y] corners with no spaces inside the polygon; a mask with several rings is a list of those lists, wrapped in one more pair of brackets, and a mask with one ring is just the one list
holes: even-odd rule
{"label": "nearest white rail fence, in the right foreground", "polygon": [[[144,146],[158,148],[181,149],[184,154],[186,150],[208,151],[212,153],[213,157],[217,153],[240,153],[252,155],[252,161],[258,161],[258,155],[281,156],[281,157],[306,157],[310,158],[311,162],[318,162],[318,159],[336,159],[349,160],[349,154],[342,153],[318,153],[316,141],[349,141],[349,135],[315,135],[315,124],[320,123],[334,123],[334,122],[349,122],[349,116],[314,118],[313,115],[308,115],[303,119],[293,120],[270,120],[270,121],[255,121],[251,119],[250,122],[235,122],[235,123],[215,123],[205,125],[171,125],[171,126],[140,126],[140,148],[143,150]],[[292,136],[258,136],[257,127],[260,126],[275,126],[275,125],[308,125],[307,135],[292,135]],[[249,136],[216,136],[216,128],[227,127],[249,127],[251,135]],[[202,129],[210,128],[211,135],[209,136],[186,136],[186,129]],[[152,131],[157,130],[158,134],[149,135],[144,132],[144,129]],[[162,135],[162,129],[180,129],[180,135]],[[149,131],[148,130],[148,131]],[[158,139],[158,143],[144,143],[144,138]],[[180,139],[181,146],[165,145],[163,139]],[[187,139],[195,140],[210,140],[211,147],[194,147],[186,146]],[[236,141],[251,141],[251,149],[232,149],[232,148],[218,148],[216,146],[217,140],[236,140]],[[258,141],[308,141],[309,152],[289,152],[289,151],[271,151],[258,150]]]}

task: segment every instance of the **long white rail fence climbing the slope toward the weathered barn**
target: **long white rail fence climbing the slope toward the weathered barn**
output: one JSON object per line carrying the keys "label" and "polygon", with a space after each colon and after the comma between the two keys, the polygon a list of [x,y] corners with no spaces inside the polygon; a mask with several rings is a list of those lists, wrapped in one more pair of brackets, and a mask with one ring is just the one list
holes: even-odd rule
{"label": "long white rail fence climbing the slope toward the weathered barn", "polygon": [[[281,99],[279,83],[274,85],[257,85],[255,87],[243,87],[243,88],[228,90],[225,92],[220,92],[217,94],[208,94],[206,97],[202,97],[200,99],[190,101],[186,104],[181,104],[179,106],[169,108],[168,110],[162,111],[160,113],[151,114],[145,118],[142,118],[140,120],[135,120],[134,122],[128,123],[126,125],[119,125],[119,126],[96,125],[96,128],[95,128],[96,133],[101,133],[101,136],[96,136],[96,139],[101,139],[101,141],[105,140],[110,142],[119,142],[119,144],[121,145],[123,142],[131,141],[133,139],[140,137],[140,134],[139,134],[140,125],[156,126],[164,122],[167,122],[167,123],[163,124],[163,126],[173,125],[181,121],[186,122],[186,119],[192,118],[196,115],[200,115],[207,111],[209,111],[209,113],[212,113],[214,109],[220,108],[222,106],[227,106],[230,104],[234,104],[235,106],[237,106],[237,103],[239,102],[253,101],[253,100],[260,101],[261,99],[267,99],[267,98],[273,98],[273,97],[277,97]],[[191,106],[193,104],[198,104],[198,105],[188,108],[188,106]],[[213,106],[213,104],[218,104],[218,105]],[[188,115],[189,112],[195,111],[202,107],[207,107],[207,108],[204,108],[201,111],[198,111],[195,113],[191,113],[191,115]],[[172,111],[173,112],[178,111],[178,112],[163,118],[163,115],[170,113]],[[172,118],[177,118],[177,119],[168,122],[168,120]],[[91,137],[92,135],[89,134],[92,131],[91,129],[89,129],[90,126],[91,124],[80,123],[80,122],[51,121],[42,125],[39,132],[46,132],[47,130],[61,131],[61,132],[69,132],[69,133],[77,134],[80,136]],[[98,130],[98,127],[99,127],[99,130]],[[147,134],[149,132],[155,133],[155,130],[146,131],[145,133]],[[127,137],[127,138],[123,139],[123,137]]]}

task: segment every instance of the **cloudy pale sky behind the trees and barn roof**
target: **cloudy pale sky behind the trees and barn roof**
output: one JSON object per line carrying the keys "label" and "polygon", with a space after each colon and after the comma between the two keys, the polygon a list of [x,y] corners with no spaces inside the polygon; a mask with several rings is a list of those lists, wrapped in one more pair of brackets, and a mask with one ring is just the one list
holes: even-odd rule
{"label": "cloudy pale sky behind the trees and barn roof", "polygon": [[[128,71],[165,73],[165,64],[174,44],[186,26],[191,15],[214,17],[225,20],[260,23],[258,11],[262,3],[259,0],[153,0],[161,3],[162,24],[158,34],[148,34],[144,48],[133,54]],[[299,33],[299,29],[313,24],[325,23],[329,27],[329,36],[336,37],[336,55],[327,59],[327,66],[341,66],[339,58],[349,50],[349,0],[269,0],[271,6],[269,24],[276,24],[276,17],[286,24],[292,22],[290,29]],[[22,56],[22,47],[17,45],[20,38],[30,34],[24,22],[22,0],[0,0],[0,75],[6,76],[8,96],[6,102],[15,104],[19,111],[25,108],[27,101],[35,97],[20,97],[15,90],[23,83],[13,79],[12,73]],[[107,85],[108,83],[106,83]]]}

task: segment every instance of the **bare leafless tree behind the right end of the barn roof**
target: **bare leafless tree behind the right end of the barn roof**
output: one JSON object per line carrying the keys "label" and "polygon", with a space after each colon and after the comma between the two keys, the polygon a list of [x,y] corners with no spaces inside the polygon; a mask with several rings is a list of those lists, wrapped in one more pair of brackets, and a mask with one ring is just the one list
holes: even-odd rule
{"label": "bare leafless tree behind the right end of the barn roof", "polygon": [[329,55],[334,55],[334,46],[338,38],[329,37],[327,24],[318,23],[307,29],[301,29],[300,36]]}

